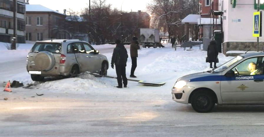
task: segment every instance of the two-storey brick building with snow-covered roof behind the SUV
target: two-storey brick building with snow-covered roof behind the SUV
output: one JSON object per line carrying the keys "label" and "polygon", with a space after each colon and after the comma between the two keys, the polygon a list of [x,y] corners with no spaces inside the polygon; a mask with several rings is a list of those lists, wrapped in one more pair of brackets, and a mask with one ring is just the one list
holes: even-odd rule
{"label": "two-storey brick building with snow-covered roof behind the SUV", "polygon": [[65,30],[66,13],[42,5],[26,4],[26,40],[69,39]]}

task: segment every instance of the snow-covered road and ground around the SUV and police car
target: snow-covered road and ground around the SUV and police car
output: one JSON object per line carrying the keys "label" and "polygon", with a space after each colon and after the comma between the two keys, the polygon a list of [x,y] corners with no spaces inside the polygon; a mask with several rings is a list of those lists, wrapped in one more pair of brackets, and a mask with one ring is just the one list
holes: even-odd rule
{"label": "snow-covered road and ground around the SUV and police car", "polygon": [[[113,47],[94,47],[111,61]],[[129,53],[129,46],[126,48]],[[32,83],[25,69],[27,52],[0,50],[1,59],[11,56],[0,62],[0,81]],[[206,54],[180,48],[175,52],[169,44],[141,49],[137,79],[167,82],[162,87],[129,81],[128,88],[117,89],[115,79],[84,73],[77,78],[40,83],[33,89],[0,92],[0,136],[263,136],[263,106],[216,106],[211,113],[203,114],[191,105],[172,101],[171,88],[179,77],[209,70]],[[219,54],[219,64],[231,58]],[[128,76],[130,69],[128,58]],[[116,76],[112,68],[108,74]]]}

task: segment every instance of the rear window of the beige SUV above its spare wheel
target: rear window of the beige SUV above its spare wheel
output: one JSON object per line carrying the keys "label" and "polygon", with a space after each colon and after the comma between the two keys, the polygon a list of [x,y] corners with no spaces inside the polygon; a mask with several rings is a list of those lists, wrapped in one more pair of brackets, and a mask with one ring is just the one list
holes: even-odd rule
{"label": "rear window of the beige SUV above its spare wheel", "polygon": [[38,53],[42,51],[61,53],[61,43],[36,42],[30,52]]}

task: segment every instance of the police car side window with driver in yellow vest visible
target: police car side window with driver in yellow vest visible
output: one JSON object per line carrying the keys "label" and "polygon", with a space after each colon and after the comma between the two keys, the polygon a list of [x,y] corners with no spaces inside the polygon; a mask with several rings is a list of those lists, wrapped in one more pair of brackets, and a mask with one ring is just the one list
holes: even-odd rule
{"label": "police car side window with driver in yellow vest visible", "polygon": [[263,57],[255,57],[247,59],[236,67],[232,68],[236,76],[243,75],[262,75],[263,74]]}

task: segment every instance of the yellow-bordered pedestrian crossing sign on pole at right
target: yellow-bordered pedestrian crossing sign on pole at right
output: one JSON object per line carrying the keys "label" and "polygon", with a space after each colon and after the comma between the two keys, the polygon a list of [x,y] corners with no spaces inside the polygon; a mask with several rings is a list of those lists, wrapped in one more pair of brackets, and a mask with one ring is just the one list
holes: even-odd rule
{"label": "yellow-bordered pedestrian crossing sign on pole at right", "polygon": [[253,37],[262,36],[262,11],[254,12]]}

